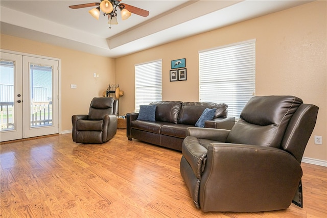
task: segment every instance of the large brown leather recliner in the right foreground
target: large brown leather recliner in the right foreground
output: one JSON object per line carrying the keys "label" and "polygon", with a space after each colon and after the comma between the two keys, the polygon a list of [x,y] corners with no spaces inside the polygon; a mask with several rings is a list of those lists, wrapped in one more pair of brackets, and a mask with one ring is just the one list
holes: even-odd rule
{"label": "large brown leather recliner in the right foreground", "polygon": [[303,152],[318,107],[294,96],[255,96],[231,130],[188,128],[180,173],[196,207],[256,212],[302,207]]}

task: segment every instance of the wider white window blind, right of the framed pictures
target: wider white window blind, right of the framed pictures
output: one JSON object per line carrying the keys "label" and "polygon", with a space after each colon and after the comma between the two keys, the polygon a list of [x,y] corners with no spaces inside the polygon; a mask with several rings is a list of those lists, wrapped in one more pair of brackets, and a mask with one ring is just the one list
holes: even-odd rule
{"label": "wider white window blind, right of the framed pictures", "polygon": [[240,117],[255,95],[255,40],[199,52],[200,101],[225,103]]}

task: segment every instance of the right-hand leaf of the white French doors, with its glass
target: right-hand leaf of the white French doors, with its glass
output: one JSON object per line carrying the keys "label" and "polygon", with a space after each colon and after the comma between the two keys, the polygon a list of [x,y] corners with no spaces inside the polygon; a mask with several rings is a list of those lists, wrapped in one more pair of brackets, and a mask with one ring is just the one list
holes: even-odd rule
{"label": "right-hand leaf of the white French doors, with its glass", "polygon": [[24,138],[59,133],[58,61],[24,56]]}

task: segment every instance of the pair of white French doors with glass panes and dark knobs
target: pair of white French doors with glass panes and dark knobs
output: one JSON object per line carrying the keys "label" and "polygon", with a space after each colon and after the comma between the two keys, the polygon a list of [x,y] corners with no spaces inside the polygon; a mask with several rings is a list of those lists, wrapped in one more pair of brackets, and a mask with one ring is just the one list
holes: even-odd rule
{"label": "pair of white French doors with glass panes and dark knobs", "polygon": [[58,60],[1,52],[0,141],[59,133]]}

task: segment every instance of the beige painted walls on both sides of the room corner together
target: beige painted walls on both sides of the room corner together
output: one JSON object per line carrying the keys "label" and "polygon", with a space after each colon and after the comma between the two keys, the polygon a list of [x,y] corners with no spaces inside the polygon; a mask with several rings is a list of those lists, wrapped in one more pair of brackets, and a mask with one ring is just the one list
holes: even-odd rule
{"label": "beige painted walls on both sides of the room corner together", "polygon": [[[125,92],[120,113],[134,110],[134,64],[162,59],[162,100],[198,101],[198,51],[256,39],[256,95],[296,95],[319,106],[305,157],[327,161],[326,1],[241,22],[135,53],[105,58],[49,44],[1,35],[1,49],[61,59],[61,127],[71,130],[71,116],[87,113],[90,100],[108,84]],[[196,27],[195,27],[196,28]],[[186,81],[169,82],[170,61],[186,58]],[[94,72],[99,78],[93,78]],[[70,84],[77,84],[71,89]]]}

